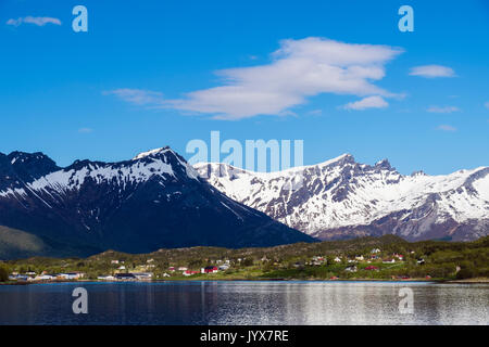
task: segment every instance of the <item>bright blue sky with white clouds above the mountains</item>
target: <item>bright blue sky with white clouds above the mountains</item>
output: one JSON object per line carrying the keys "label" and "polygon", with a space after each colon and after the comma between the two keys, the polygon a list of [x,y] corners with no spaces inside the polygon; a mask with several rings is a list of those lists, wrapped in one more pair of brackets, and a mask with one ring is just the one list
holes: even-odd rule
{"label": "bright blue sky with white clouds above the mountains", "polygon": [[[77,4],[88,33],[72,29]],[[398,29],[403,4],[413,33]],[[484,0],[0,0],[0,41],[2,153],[190,157],[188,141],[220,130],[302,139],[304,164],[489,165]]]}

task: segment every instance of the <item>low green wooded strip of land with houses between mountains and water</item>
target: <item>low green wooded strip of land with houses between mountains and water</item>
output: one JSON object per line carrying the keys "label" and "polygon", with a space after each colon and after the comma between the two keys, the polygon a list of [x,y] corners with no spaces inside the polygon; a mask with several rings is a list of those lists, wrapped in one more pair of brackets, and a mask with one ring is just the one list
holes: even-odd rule
{"label": "low green wooded strip of land with houses between mountains and water", "polygon": [[[205,268],[215,271],[205,273]],[[12,273],[67,272],[84,273],[84,281],[141,272],[151,273],[152,280],[484,280],[489,278],[489,236],[473,242],[410,243],[384,235],[266,248],[108,250],[88,258],[0,261],[0,282]]]}

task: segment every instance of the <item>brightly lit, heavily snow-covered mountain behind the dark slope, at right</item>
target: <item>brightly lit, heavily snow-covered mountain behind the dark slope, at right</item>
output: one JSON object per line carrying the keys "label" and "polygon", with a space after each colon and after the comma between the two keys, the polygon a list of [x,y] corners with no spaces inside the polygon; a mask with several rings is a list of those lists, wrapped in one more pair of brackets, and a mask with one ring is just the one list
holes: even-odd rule
{"label": "brightly lit, heavily snow-covered mountain behind the dark slope, at right", "polygon": [[344,154],[278,172],[226,164],[195,168],[233,200],[323,240],[391,233],[465,241],[489,234],[489,167],[403,176],[387,159],[369,166]]}

